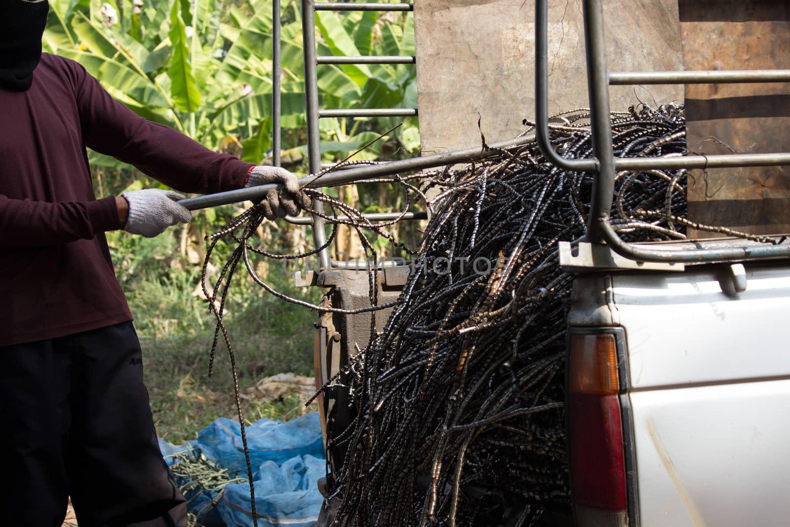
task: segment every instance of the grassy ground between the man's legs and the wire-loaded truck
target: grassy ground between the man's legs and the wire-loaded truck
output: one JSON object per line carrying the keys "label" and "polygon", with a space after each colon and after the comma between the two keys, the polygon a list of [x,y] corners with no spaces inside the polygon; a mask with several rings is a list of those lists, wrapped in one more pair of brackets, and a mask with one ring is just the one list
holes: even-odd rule
{"label": "grassy ground between the man's legs and the wire-loaded truck", "polygon": [[[116,274],[140,336],[145,383],[159,436],[179,444],[194,439],[217,417],[237,418],[231,363],[221,336],[214,375],[208,376],[216,320],[207,300],[196,294],[201,265],[163,257],[177,247],[175,232],[154,239],[120,234],[110,242]],[[221,264],[221,255],[217,260]],[[289,278],[280,269],[269,273],[273,286],[288,295],[315,301],[321,294],[295,289]],[[242,392],[277,373],[313,375],[314,312],[264,292],[243,269],[226,307],[224,321]],[[243,403],[247,421],[301,415],[298,397]]]}

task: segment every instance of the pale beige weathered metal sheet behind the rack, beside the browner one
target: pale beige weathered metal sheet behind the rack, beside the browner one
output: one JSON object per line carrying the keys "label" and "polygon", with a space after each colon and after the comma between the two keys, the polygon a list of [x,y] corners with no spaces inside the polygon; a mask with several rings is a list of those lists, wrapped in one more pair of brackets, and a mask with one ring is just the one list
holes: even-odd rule
{"label": "pale beige weathered metal sheet behind the rack, beside the browner one", "polygon": [[[549,111],[589,106],[580,0],[549,0]],[[611,70],[682,70],[677,0],[607,0]],[[504,141],[535,117],[534,0],[415,2],[423,152]],[[612,110],[683,98],[682,86],[613,86]]]}

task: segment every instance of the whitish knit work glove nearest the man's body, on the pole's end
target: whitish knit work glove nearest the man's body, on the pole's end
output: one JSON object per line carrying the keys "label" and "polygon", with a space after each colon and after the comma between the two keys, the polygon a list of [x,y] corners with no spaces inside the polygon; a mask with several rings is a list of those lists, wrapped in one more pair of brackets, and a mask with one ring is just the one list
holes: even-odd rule
{"label": "whitish knit work glove nearest the man's body, on the pole's end", "polygon": [[153,238],[175,224],[186,224],[192,213],[175,201],[184,197],[175,190],[143,189],[121,194],[129,202],[123,230]]}

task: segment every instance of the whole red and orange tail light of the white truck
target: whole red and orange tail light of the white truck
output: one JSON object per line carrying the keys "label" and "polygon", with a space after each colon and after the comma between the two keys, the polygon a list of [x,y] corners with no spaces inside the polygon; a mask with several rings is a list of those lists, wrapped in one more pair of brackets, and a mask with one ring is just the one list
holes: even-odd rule
{"label": "whole red and orange tail light of the white truck", "polygon": [[628,525],[618,365],[614,334],[570,334],[570,480],[580,527]]}

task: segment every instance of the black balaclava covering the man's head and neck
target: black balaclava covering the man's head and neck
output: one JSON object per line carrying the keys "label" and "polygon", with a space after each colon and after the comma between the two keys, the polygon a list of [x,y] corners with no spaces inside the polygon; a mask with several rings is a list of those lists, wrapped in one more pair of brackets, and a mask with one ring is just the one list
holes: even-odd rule
{"label": "black balaclava covering the man's head and neck", "polygon": [[41,60],[47,0],[0,0],[0,87],[24,92]]}

